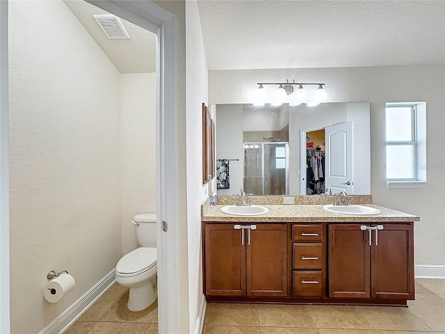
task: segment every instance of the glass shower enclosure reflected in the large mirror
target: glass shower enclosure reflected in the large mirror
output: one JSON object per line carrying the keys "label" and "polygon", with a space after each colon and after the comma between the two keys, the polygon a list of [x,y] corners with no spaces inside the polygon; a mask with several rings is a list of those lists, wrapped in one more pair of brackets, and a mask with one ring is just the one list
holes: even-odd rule
{"label": "glass shower enclosure reflected in the large mirror", "polygon": [[245,193],[289,194],[289,143],[244,143]]}

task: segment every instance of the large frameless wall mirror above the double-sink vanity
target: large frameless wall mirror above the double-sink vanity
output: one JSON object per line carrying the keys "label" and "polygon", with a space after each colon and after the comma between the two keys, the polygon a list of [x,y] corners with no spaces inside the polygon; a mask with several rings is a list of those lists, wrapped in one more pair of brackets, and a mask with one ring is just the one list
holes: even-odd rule
{"label": "large frameless wall mirror above the double-sink vanity", "polygon": [[371,194],[369,102],[213,111],[218,195]]}

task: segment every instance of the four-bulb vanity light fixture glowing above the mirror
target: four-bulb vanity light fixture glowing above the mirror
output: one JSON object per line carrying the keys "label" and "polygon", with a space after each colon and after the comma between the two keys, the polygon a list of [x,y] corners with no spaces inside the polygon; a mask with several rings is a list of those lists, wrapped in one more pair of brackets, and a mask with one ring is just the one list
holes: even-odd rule
{"label": "four-bulb vanity light fixture glowing above the mirror", "polygon": [[[298,106],[302,103],[306,103],[308,106],[317,106],[321,102],[325,102],[327,100],[327,95],[323,86],[325,84],[313,84],[313,83],[298,83],[293,79],[292,82],[289,82],[286,79],[286,82],[275,82],[275,83],[267,83],[267,82],[259,82],[259,92],[257,101],[254,102],[255,106],[264,106],[267,102],[266,90],[264,89],[264,85],[275,85],[278,86],[277,91],[273,97],[270,105],[272,106],[280,106],[284,102],[289,102],[290,106]],[[297,86],[295,89],[293,86]],[[314,89],[305,89],[304,86],[318,86],[316,90]],[[261,91],[261,93],[260,93]],[[295,94],[293,94],[295,93]],[[309,93],[309,94],[308,94]],[[261,96],[260,96],[261,95]]]}

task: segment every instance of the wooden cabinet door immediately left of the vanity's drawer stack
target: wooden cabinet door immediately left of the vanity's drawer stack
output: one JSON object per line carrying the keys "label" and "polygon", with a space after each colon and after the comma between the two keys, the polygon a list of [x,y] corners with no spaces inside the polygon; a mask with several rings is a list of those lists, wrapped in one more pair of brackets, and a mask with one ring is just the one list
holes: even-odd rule
{"label": "wooden cabinet door immediately left of the vanity's drawer stack", "polygon": [[287,227],[256,226],[246,231],[247,295],[287,296]]}

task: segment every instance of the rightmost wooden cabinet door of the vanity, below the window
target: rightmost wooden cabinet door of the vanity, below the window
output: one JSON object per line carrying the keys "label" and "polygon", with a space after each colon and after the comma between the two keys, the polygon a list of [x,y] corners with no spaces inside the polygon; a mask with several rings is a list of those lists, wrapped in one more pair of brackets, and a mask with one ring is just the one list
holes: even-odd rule
{"label": "rightmost wooden cabinet door of the vanity, below the window", "polygon": [[414,299],[413,225],[381,225],[373,231],[373,298]]}

